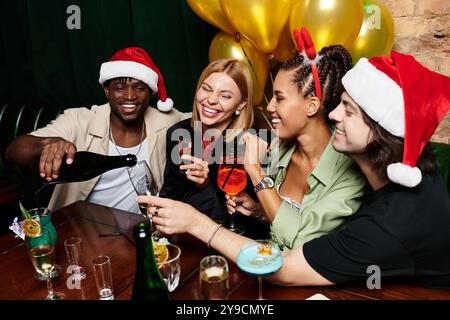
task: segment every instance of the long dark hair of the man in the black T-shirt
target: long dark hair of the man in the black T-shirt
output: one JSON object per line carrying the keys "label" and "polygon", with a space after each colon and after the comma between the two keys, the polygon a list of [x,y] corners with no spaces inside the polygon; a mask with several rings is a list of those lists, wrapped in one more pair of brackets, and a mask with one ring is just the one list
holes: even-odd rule
{"label": "long dark hair of the man in the black T-shirt", "polygon": [[[391,163],[402,162],[404,140],[390,134],[363,110],[361,110],[361,114],[364,122],[372,131],[372,141],[366,146],[365,154],[374,171],[380,177],[388,179],[387,166]],[[422,151],[416,167],[422,171],[422,175],[433,173],[436,170],[436,160],[431,153],[429,144]]]}

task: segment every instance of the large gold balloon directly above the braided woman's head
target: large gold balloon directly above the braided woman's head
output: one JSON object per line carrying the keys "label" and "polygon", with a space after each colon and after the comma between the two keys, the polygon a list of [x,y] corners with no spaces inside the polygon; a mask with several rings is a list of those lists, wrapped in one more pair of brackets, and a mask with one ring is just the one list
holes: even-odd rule
{"label": "large gold balloon directly above the braided woman's head", "polygon": [[306,27],[317,51],[335,44],[350,48],[363,17],[363,0],[294,0],[289,30],[292,36],[294,28]]}

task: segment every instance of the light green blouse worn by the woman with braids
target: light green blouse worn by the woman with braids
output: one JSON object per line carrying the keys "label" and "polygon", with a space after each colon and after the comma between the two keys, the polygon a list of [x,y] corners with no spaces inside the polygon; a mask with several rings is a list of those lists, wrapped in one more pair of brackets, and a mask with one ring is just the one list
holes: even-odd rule
{"label": "light green blouse worn by the woman with braids", "polygon": [[[280,194],[283,201],[272,221],[271,236],[283,249],[293,249],[331,232],[359,209],[365,177],[349,157],[333,149],[333,137],[334,132],[307,178],[310,190],[303,196],[302,203]],[[296,148],[296,142],[282,144],[279,161],[270,166],[270,172],[275,173],[277,191]]]}

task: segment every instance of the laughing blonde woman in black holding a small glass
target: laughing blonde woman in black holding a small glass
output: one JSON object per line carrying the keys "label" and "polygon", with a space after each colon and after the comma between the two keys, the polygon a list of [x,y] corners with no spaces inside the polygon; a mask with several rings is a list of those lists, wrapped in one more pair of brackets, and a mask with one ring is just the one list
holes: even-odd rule
{"label": "laughing blonde woman in black holding a small glass", "polygon": [[188,203],[217,222],[228,219],[217,172],[223,150],[253,124],[252,96],[252,77],[245,63],[217,60],[203,70],[192,118],[167,131],[162,197]]}

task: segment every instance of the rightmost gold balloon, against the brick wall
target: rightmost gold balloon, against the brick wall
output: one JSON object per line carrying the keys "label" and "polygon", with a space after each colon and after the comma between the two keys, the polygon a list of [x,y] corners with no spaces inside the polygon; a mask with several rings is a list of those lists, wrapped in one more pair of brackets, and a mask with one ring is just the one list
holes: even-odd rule
{"label": "rightmost gold balloon, against the brick wall", "polygon": [[364,22],[350,48],[353,64],[362,57],[388,54],[394,44],[394,19],[386,6],[377,0],[364,0]]}

